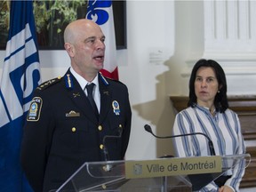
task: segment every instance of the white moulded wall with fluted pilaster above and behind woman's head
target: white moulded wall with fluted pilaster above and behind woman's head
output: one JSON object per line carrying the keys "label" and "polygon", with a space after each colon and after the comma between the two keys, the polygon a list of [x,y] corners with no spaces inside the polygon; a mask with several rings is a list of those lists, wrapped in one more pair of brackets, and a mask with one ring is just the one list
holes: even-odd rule
{"label": "white moulded wall with fluted pilaster above and behind woman's head", "polygon": [[175,52],[167,79],[179,85],[171,81],[168,93],[188,96],[191,69],[204,58],[224,69],[228,96],[255,95],[256,1],[175,1],[174,11]]}

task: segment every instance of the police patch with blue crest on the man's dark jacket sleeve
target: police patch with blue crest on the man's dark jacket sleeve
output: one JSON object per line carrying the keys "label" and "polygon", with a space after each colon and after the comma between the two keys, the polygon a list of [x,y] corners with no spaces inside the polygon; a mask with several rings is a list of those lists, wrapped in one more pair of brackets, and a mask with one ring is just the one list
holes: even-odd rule
{"label": "police patch with blue crest on the man's dark jacket sleeve", "polygon": [[40,97],[34,97],[28,110],[27,121],[38,121],[41,114],[43,100]]}

